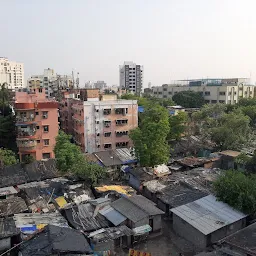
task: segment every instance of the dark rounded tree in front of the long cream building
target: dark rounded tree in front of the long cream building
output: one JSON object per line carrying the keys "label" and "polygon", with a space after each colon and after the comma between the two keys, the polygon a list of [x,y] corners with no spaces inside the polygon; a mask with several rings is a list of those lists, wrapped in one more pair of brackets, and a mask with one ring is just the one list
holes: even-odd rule
{"label": "dark rounded tree in front of the long cream building", "polygon": [[204,98],[199,92],[182,91],[173,95],[173,101],[184,108],[200,108],[204,104]]}

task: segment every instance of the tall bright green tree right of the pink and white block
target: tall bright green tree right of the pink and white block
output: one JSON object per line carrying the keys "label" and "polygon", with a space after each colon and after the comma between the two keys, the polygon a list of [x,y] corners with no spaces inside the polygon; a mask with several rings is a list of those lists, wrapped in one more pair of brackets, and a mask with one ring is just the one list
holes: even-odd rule
{"label": "tall bright green tree right of the pink and white block", "polygon": [[130,132],[135,155],[142,166],[154,166],[168,162],[170,149],[166,139],[169,131],[167,109],[157,104],[146,106],[140,127]]}

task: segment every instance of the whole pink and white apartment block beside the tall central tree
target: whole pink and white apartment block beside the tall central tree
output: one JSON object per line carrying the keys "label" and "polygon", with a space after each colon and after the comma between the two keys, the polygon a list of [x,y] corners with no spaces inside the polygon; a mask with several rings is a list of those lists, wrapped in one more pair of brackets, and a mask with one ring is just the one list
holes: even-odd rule
{"label": "whole pink and white apartment block beside the tall central tree", "polygon": [[129,148],[128,133],[138,126],[137,101],[100,95],[98,89],[67,92],[60,103],[60,124],[86,153]]}

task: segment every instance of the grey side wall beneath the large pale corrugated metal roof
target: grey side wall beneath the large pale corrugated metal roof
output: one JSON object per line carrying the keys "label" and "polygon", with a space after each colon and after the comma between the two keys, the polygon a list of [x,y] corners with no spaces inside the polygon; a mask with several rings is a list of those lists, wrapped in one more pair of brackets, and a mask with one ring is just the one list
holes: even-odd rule
{"label": "grey side wall beneath the large pale corrugated metal roof", "polygon": [[196,246],[202,249],[207,246],[207,237],[175,214],[173,214],[173,229]]}

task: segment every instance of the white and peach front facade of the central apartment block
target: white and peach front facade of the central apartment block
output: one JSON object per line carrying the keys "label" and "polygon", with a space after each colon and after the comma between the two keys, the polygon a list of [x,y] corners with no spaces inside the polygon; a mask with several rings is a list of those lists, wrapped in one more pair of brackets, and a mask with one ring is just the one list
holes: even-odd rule
{"label": "white and peach front facade of the central apartment block", "polygon": [[138,127],[136,100],[84,101],[85,152],[130,148],[129,131]]}

